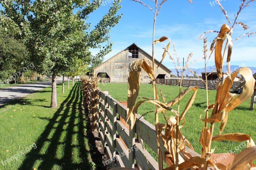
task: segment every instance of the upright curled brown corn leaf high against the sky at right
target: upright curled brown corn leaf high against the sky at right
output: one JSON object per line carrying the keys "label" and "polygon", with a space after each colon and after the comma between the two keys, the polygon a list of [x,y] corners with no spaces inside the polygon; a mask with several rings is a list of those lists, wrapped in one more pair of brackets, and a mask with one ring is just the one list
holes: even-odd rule
{"label": "upright curled brown corn leaf high against the sky at right", "polygon": [[217,68],[217,75],[218,78],[222,78],[222,63],[223,63],[223,58],[222,58],[222,46],[223,42],[225,41],[227,37],[227,33],[229,33],[231,27],[228,26],[227,24],[223,24],[220,28],[220,33],[218,34],[218,38],[216,40],[216,46],[215,46],[215,65]]}

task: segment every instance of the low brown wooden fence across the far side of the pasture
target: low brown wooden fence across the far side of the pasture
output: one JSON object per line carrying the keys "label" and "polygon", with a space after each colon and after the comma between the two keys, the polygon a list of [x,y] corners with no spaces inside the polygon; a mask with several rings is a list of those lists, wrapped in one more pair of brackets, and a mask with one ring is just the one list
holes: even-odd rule
{"label": "low brown wooden fence across the far side of the pasture", "polygon": [[[205,81],[201,79],[183,79],[182,86],[183,87],[190,87],[190,86],[197,86],[201,89],[206,89]],[[221,81],[222,84],[223,81]],[[237,86],[241,85],[244,81],[237,81],[234,82],[231,86],[230,90],[235,89]],[[156,84],[161,85],[180,85],[179,79],[177,78],[170,78],[170,79],[159,79],[156,78]],[[208,89],[210,90],[217,90],[217,84],[218,82],[215,80],[208,80]]]}

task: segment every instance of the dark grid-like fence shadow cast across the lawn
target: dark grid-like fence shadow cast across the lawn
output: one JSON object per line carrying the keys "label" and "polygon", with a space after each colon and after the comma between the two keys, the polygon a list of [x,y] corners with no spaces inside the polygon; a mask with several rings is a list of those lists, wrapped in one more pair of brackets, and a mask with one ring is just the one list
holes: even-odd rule
{"label": "dark grid-like fence shadow cast across the lawn", "polygon": [[20,166],[23,169],[91,169],[88,141],[85,138],[86,122],[81,107],[81,83],[76,83],[58,108],[45,130],[35,142],[37,148],[26,155]]}

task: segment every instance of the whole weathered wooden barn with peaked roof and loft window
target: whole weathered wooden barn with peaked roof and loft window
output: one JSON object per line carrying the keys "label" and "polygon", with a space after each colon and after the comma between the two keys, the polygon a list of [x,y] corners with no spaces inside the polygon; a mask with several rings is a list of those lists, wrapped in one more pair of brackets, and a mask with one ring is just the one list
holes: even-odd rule
{"label": "whole weathered wooden barn with peaked roof and loft window", "polygon": [[[133,43],[131,46],[95,67],[94,74],[101,78],[101,82],[127,83],[130,64],[132,61],[140,58],[148,58],[150,64],[152,64],[152,56]],[[156,78],[170,78],[172,71],[163,64],[156,68],[158,64],[159,61],[155,59]],[[150,81],[152,81],[151,78],[142,70],[140,83],[149,83]]]}

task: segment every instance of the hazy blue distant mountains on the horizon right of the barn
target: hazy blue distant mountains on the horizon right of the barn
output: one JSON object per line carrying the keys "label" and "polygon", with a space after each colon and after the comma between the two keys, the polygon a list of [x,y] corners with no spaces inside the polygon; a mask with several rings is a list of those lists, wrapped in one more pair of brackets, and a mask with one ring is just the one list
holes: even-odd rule
{"label": "hazy blue distant mountains on the horizon right of the barn", "polygon": [[[212,69],[214,69],[214,67],[215,66],[208,66],[208,67],[206,67],[207,72],[211,72]],[[231,65],[230,66],[231,72],[235,71],[237,68],[239,68],[238,65]],[[252,70],[252,74],[256,73],[256,67],[248,67],[248,68],[250,68]],[[227,66],[226,65],[223,66],[222,69],[223,69],[223,72],[227,72]],[[177,72],[176,72],[175,69],[170,69],[170,70],[172,70],[171,74],[177,76]],[[205,72],[204,68],[200,68],[200,69],[189,68],[189,70],[196,71],[196,75],[197,76],[202,76],[201,73]],[[215,70],[215,72],[216,72],[216,70]],[[187,76],[187,75],[188,76],[193,76],[193,73],[191,73],[190,71],[186,70],[185,73],[184,73],[184,76]]]}

